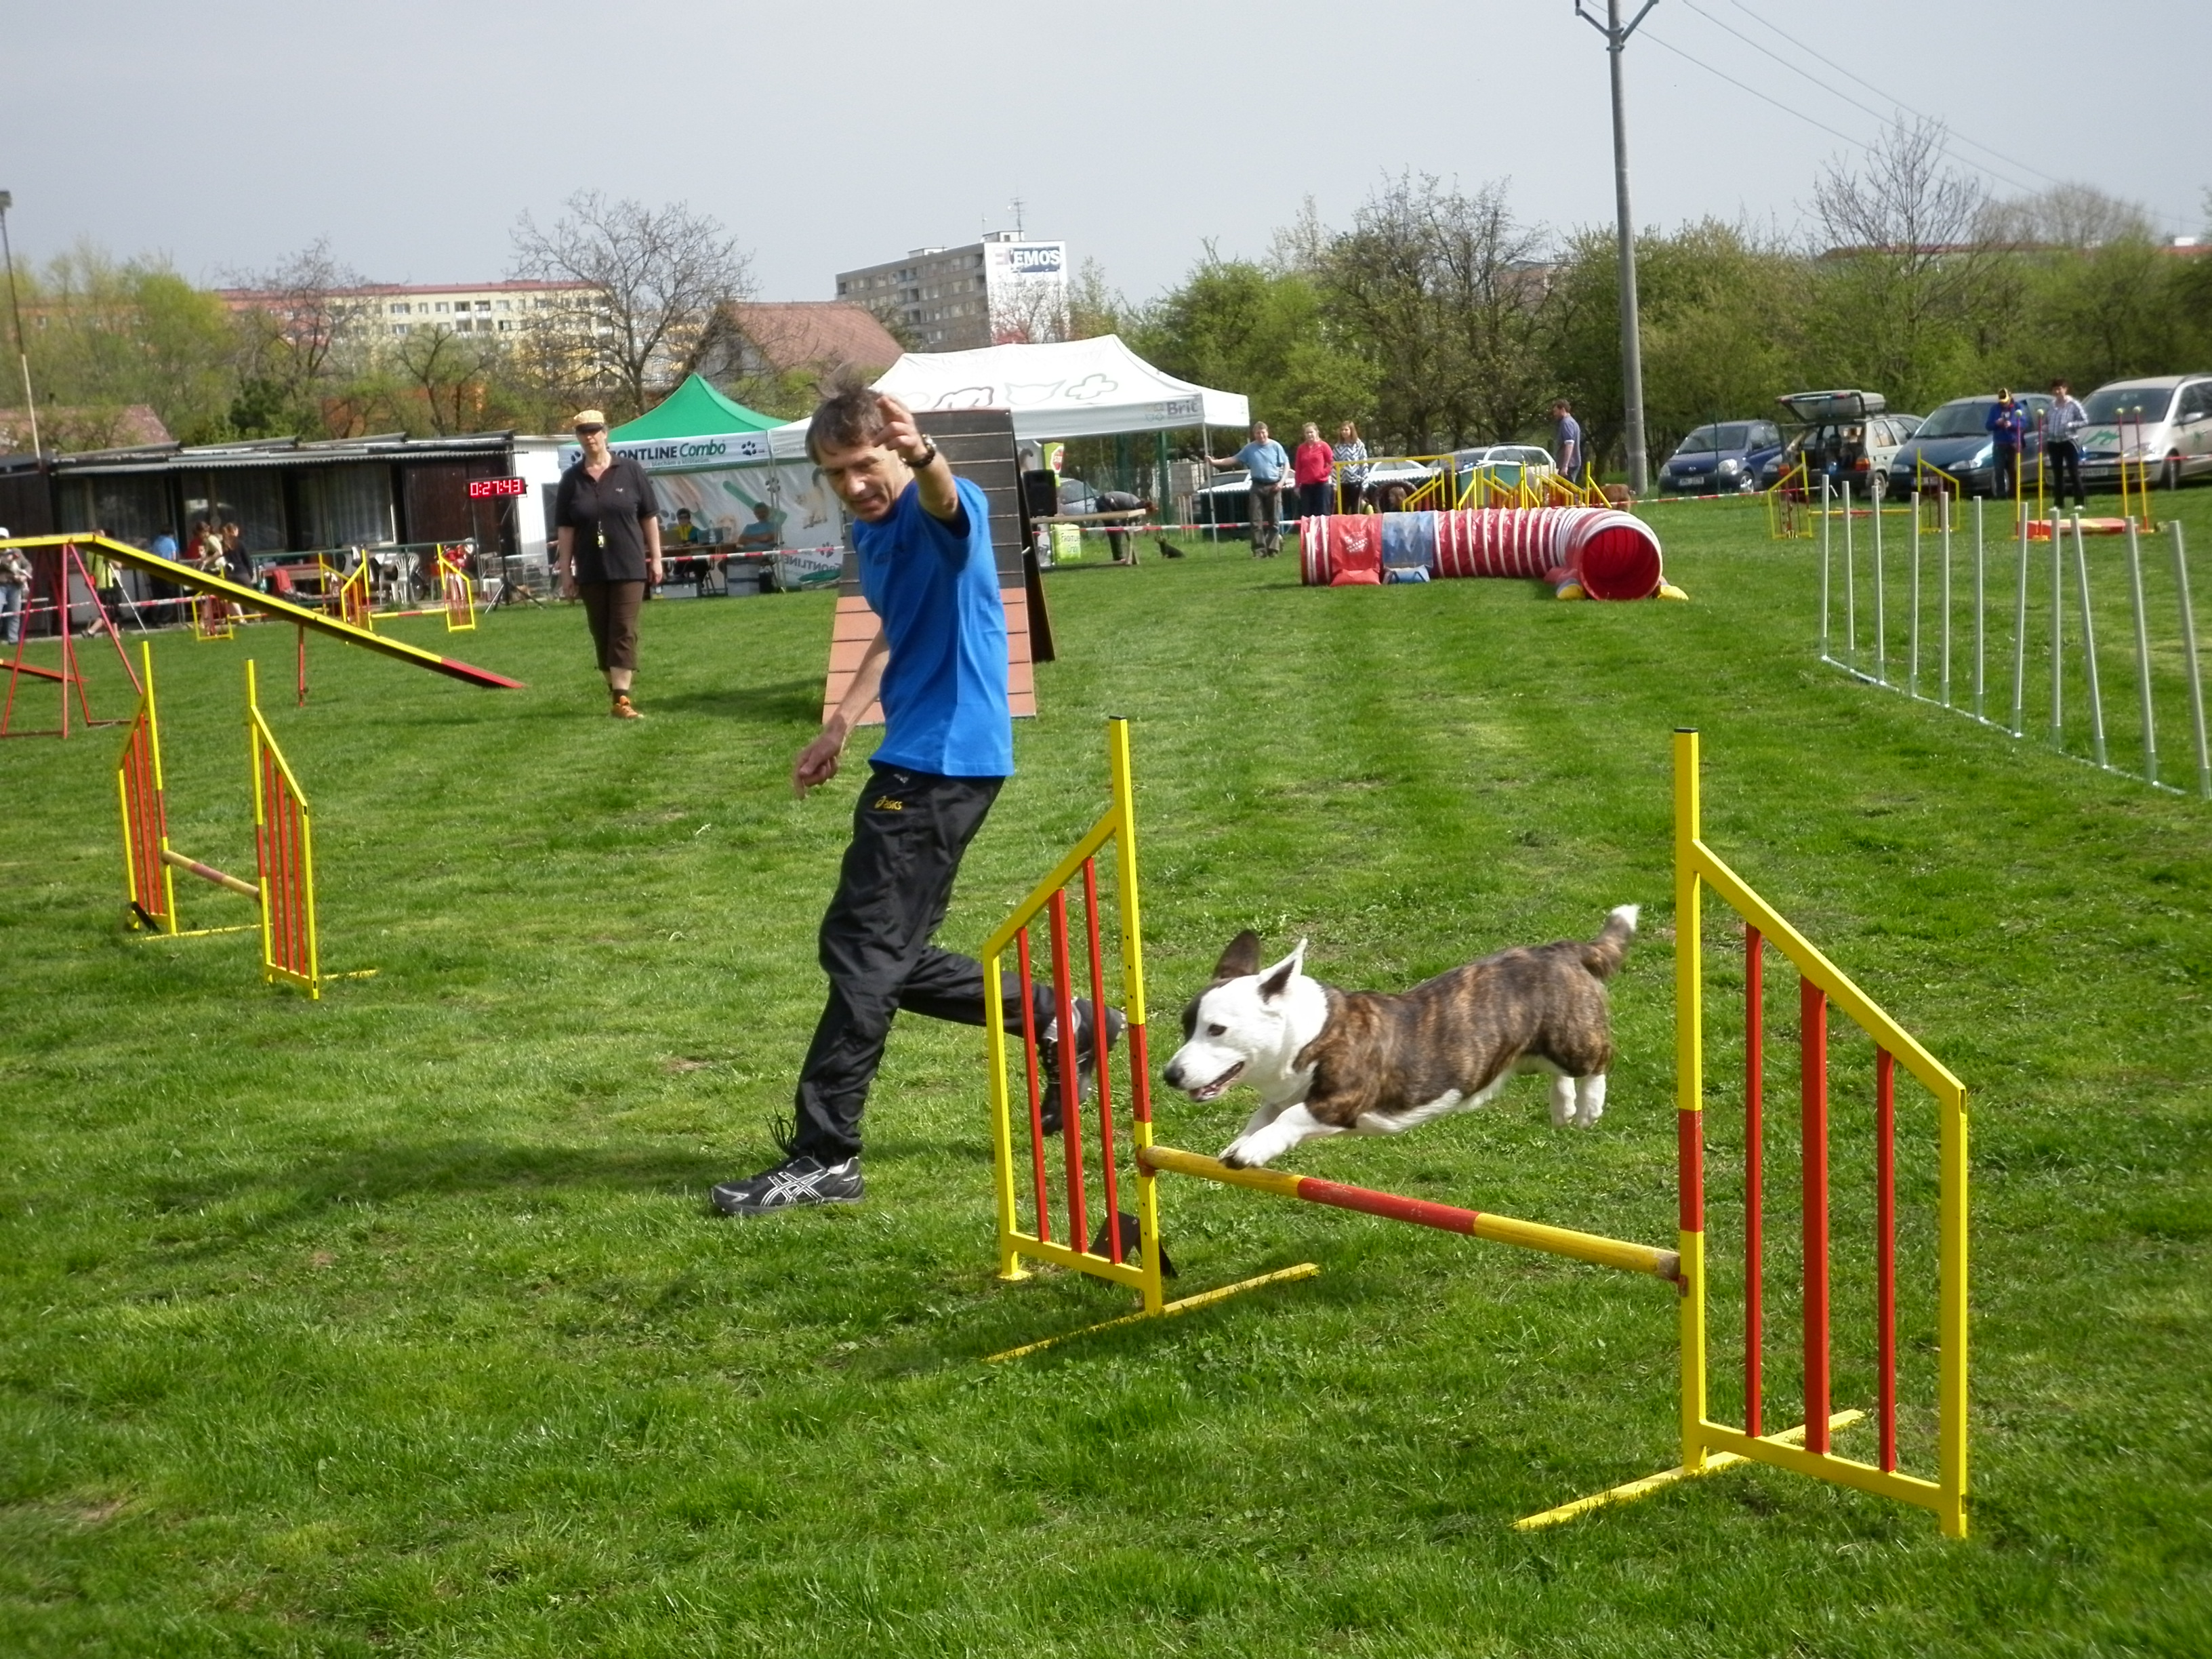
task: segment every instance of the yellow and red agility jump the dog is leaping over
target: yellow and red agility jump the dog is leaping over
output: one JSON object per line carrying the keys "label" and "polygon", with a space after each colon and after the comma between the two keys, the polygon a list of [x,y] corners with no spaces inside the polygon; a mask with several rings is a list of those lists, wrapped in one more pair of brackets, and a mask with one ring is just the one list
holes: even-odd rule
{"label": "yellow and red agility jump the dog is leaping over", "polygon": [[[998,1261],[1000,1279],[1026,1279],[1024,1261],[1046,1261],[1060,1267],[1104,1279],[1135,1290],[1139,1310],[1079,1332],[1048,1336],[1037,1343],[993,1354],[1011,1360],[1055,1343],[1097,1329],[1130,1325],[1170,1314],[1208,1307],[1261,1285],[1310,1279],[1316,1263],[1298,1263],[1272,1274],[1245,1279],[1197,1296],[1166,1301],[1157,1181],[1161,1175],[1188,1175],[1221,1186],[1237,1186],[1274,1197],[1303,1199],[1340,1210],[1407,1221],[1413,1225],[1458,1232],[1493,1243],[1542,1250],[1601,1267],[1617,1267],[1677,1287],[1681,1347],[1681,1462],[1659,1475],[1615,1486],[1559,1509],[1528,1515],[1522,1528],[1551,1526],[1606,1504],[1619,1504],[1661,1491],[1679,1480],[1717,1473],[1743,1462],[1763,1462],[1792,1473],[1812,1475],[1858,1491],[1893,1498],[1938,1515],[1942,1531],[1962,1537],[1966,1531],[1966,1091],[1896,1024],[1871,998],[1812,947],[1772,905],[1705,847],[1699,821],[1699,741],[1697,732],[1674,734],[1674,1013],[1677,1013],[1677,1181],[1679,1230],[1677,1248],[1610,1239],[1540,1221],[1462,1210],[1455,1206],[1407,1199],[1391,1192],[1321,1181],[1283,1170],[1230,1168],[1197,1152],[1159,1146],[1152,1139],[1150,1064],[1146,1055],[1144,1002],[1144,936],[1137,894],[1137,823],[1130,779],[1128,723],[1106,728],[1108,783],[1113,805],[1075,843],[1066,858],[1013,909],[1006,922],[984,942],[984,987],[991,1000],[987,1044],[987,1082],[991,1095],[991,1141],[998,1177]],[[1099,900],[1099,858],[1113,852],[1115,905]],[[1095,1124],[1071,1108],[1062,1128],[1060,1159],[1046,1159],[1040,1088],[1040,1033],[1029,1018],[1031,927],[1044,918],[1053,978],[1060,995],[1060,1029],[1073,1029],[1073,947],[1071,887],[1079,885],[1084,942],[1093,1004],[1106,1006],[1110,991],[1108,958],[1119,971],[1121,1006],[1128,1015],[1128,1044],[1121,1077],[1128,1099],[1126,1139],[1115,1121],[1115,1057],[1097,1066]],[[1705,1327],[1705,1128],[1703,1128],[1703,947],[1699,938],[1701,896],[1710,887],[1745,922],[1745,1389],[1743,1422],[1725,1425],[1708,1407],[1708,1327]],[[1117,927],[1115,927],[1117,922]],[[1803,1411],[1798,1427],[1767,1431],[1763,1389],[1763,960],[1774,945],[1801,975],[1801,1093],[1803,1093]],[[1015,956],[1015,978],[1022,991],[1022,1068],[1011,1077],[1009,1033],[1000,1006],[1000,973],[1006,953]],[[1876,1462],[1860,1462],[1834,1451],[1832,1436],[1865,1411],[1832,1409],[1829,1369],[1829,1183],[1827,1183],[1827,1011],[1847,1013],[1876,1044]],[[1062,1099],[1075,1102],[1075,1044],[1060,1044]],[[1911,1475],[1898,1462],[1898,1263],[1896,1263],[1896,1064],[1918,1077],[1933,1095],[1940,1113],[1938,1146],[1938,1345],[1940,1376],[1936,1400],[1936,1478]],[[1015,1106],[1026,1104],[1029,1155],[1015,1161]],[[1086,1139],[1095,1133],[1097,1166],[1086,1170]],[[1126,1157],[1121,1148],[1126,1146]],[[1053,1170],[1057,1161],[1062,1168]],[[1135,1166],[1130,1210],[1121,1208],[1126,1166]],[[1102,1225],[1091,1230],[1091,1199],[1099,1199]],[[1057,1199],[1057,1201],[1055,1201]],[[1026,1214],[1024,1214],[1026,1212]],[[1088,1239],[1088,1243],[1086,1243]]]}

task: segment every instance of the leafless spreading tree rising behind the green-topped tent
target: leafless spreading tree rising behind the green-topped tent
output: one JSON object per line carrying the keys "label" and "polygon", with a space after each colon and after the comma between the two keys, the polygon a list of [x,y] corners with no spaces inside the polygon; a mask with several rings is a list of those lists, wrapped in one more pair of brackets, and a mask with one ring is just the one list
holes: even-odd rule
{"label": "leafless spreading tree rising behind the green-topped tent", "polygon": [[648,387],[692,358],[714,310],[750,296],[752,263],[719,221],[681,201],[648,208],[580,190],[562,208],[551,230],[529,212],[513,228],[513,274],[575,290],[531,323],[580,383],[619,387],[644,411]]}

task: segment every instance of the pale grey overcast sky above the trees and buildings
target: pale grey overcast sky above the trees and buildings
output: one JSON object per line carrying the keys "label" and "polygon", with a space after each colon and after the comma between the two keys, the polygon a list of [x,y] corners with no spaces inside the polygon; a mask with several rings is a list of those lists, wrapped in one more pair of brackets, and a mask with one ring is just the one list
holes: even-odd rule
{"label": "pale grey overcast sky above the trees and buildings", "polygon": [[[18,259],[82,237],[219,281],[327,234],[380,281],[480,281],[518,212],[599,188],[714,215],[765,299],[827,299],[838,270],[1013,228],[1020,197],[1033,237],[1146,299],[1208,239],[1261,254],[1303,197],[1345,223],[1400,168],[1613,219],[1604,42],[1573,0],[9,13]],[[1637,221],[1807,230],[1816,170],[1902,102],[2002,195],[2081,179],[2194,232],[2208,60],[2203,0],[1661,0],[1628,49]]]}

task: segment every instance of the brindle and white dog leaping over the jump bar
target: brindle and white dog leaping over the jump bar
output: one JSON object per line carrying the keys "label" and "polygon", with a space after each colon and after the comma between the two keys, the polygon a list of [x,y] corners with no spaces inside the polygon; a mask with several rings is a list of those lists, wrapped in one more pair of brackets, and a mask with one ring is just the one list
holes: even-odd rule
{"label": "brindle and white dog leaping over the jump bar", "polygon": [[1398,1135],[1469,1113],[1517,1071],[1548,1071],[1551,1121],[1588,1128],[1613,1064],[1606,980],[1635,936],[1637,907],[1621,905],[1595,940],[1500,951],[1389,995],[1307,978],[1305,940],[1261,969],[1245,929],[1183,1009],[1166,1077],[1199,1102],[1259,1088],[1259,1110],[1221,1152],[1230,1168],[1321,1135]]}

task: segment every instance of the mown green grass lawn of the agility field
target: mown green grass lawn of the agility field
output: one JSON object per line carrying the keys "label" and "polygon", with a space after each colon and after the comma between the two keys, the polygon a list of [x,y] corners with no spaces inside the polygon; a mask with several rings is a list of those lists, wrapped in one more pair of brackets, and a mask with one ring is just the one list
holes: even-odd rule
{"label": "mown green grass lawn of the agility field", "polygon": [[[2212,495],[2181,511],[2208,573]],[[1199,1183],[1161,1188],[1181,1292],[1323,1274],[982,1365],[1128,1298],[995,1283],[973,1031],[894,1033],[865,1206],[710,1217],[774,1157],[863,774],[792,799],[830,599],[770,597],[650,606],[635,726],[573,611],[456,641],[524,692],[312,644],[314,701],[272,723],[325,964],[378,969],[321,1004],[261,987],[243,933],[122,933],[115,732],[0,745],[0,1650],[2212,1652],[2212,807],[1820,668],[1814,553],[1756,507],[1657,524],[1688,606],[1314,593],[1203,546],[1055,573],[1062,659],[945,942],[1099,812],[1106,714],[1135,723],[1159,1062],[1239,927],[1398,987],[1639,900],[1597,1128],[1548,1128],[1524,1079],[1287,1164],[1672,1243],[1668,732],[1699,726],[1708,841],[1971,1091],[1971,1540],[1756,1469],[1515,1533],[1674,1462],[1668,1292]],[[290,650],[155,646],[179,849],[252,863],[241,664],[281,688]],[[186,925],[248,916],[179,889]],[[1719,902],[1708,929],[1734,1418],[1739,958]],[[1781,1241],[1794,978],[1767,978]],[[1840,1026],[1836,1064],[1836,1396],[1865,1405],[1871,1091]],[[1170,1095],[1161,1135],[1212,1152],[1248,1108]],[[1931,1117],[1900,1091],[1920,1469]]]}

